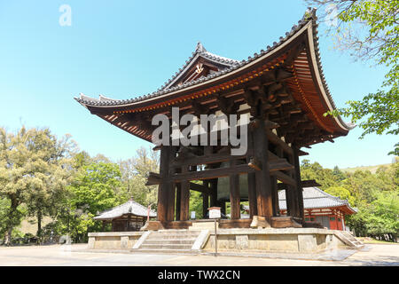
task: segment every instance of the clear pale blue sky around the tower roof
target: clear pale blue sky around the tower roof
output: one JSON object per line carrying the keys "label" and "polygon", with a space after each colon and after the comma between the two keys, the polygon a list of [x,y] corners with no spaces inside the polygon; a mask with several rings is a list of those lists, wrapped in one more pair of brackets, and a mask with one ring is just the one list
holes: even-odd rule
{"label": "clear pale blue sky around the tower roof", "polygon": [[[68,4],[70,27],[59,25]],[[0,126],[49,127],[82,150],[127,159],[149,143],[91,115],[74,97],[131,99],[156,91],[201,41],[207,51],[246,59],[284,36],[303,1],[3,1],[0,0]],[[319,28],[326,81],[337,106],[376,91],[387,69],[332,49]],[[348,119],[347,119],[348,120]],[[340,168],[391,162],[394,136],[362,130],[304,149],[304,158]]]}

